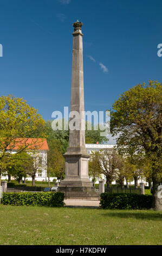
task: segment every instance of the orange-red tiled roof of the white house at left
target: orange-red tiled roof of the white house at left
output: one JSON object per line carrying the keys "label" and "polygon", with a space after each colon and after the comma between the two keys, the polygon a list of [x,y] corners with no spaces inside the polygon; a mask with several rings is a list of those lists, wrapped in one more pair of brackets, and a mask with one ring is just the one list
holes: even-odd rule
{"label": "orange-red tiled roof of the white house at left", "polygon": [[49,150],[47,139],[44,138],[16,138],[15,142],[11,143],[7,149],[17,150],[21,147],[35,150]]}

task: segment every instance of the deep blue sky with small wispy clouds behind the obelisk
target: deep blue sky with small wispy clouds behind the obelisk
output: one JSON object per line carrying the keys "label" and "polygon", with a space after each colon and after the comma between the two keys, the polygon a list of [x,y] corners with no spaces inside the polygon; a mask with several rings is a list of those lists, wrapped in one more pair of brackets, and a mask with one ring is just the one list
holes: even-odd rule
{"label": "deep blue sky with small wispy clouds behind the obelisk", "polygon": [[138,83],[161,82],[161,9],[161,0],[1,1],[1,95],[23,97],[45,120],[69,106],[77,19],[83,22],[86,111],[111,108]]}

